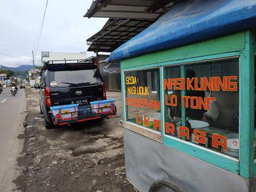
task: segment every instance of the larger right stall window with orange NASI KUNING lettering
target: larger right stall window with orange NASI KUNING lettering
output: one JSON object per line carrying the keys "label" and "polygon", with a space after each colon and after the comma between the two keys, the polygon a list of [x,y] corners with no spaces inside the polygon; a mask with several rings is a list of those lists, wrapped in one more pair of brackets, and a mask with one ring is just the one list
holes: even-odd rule
{"label": "larger right stall window with orange NASI KUNING lettering", "polygon": [[239,59],[183,65],[178,75],[171,73],[176,69],[165,68],[165,109],[179,111],[165,117],[165,133],[238,158]]}

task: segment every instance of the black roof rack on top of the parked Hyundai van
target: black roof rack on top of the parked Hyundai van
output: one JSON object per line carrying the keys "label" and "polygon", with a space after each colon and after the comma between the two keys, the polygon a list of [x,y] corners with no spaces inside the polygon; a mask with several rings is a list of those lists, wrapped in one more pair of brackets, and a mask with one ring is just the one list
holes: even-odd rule
{"label": "black roof rack on top of the parked Hyundai van", "polygon": [[[85,65],[92,65],[92,61],[89,61],[88,59],[63,59],[63,60],[51,60],[44,63],[43,67],[41,68],[41,71],[45,71],[48,67],[52,65],[66,65],[66,64],[85,64]],[[94,65],[94,64],[93,64]]]}

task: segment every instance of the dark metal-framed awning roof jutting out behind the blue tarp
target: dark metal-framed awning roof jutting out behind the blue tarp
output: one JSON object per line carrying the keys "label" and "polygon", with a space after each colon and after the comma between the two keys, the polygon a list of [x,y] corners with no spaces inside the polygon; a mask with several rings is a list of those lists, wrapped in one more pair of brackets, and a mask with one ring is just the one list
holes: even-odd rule
{"label": "dark metal-framed awning roof jutting out behind the blue tarp", "polygon": [[[149,27],[181,0],[95,0],[84,17],[109,17],[104,27],[87,39],[87,51],[112,52]],[[139,21],[132,26],[129,22]],[[143,23],[144,22],[144,23]]]}

